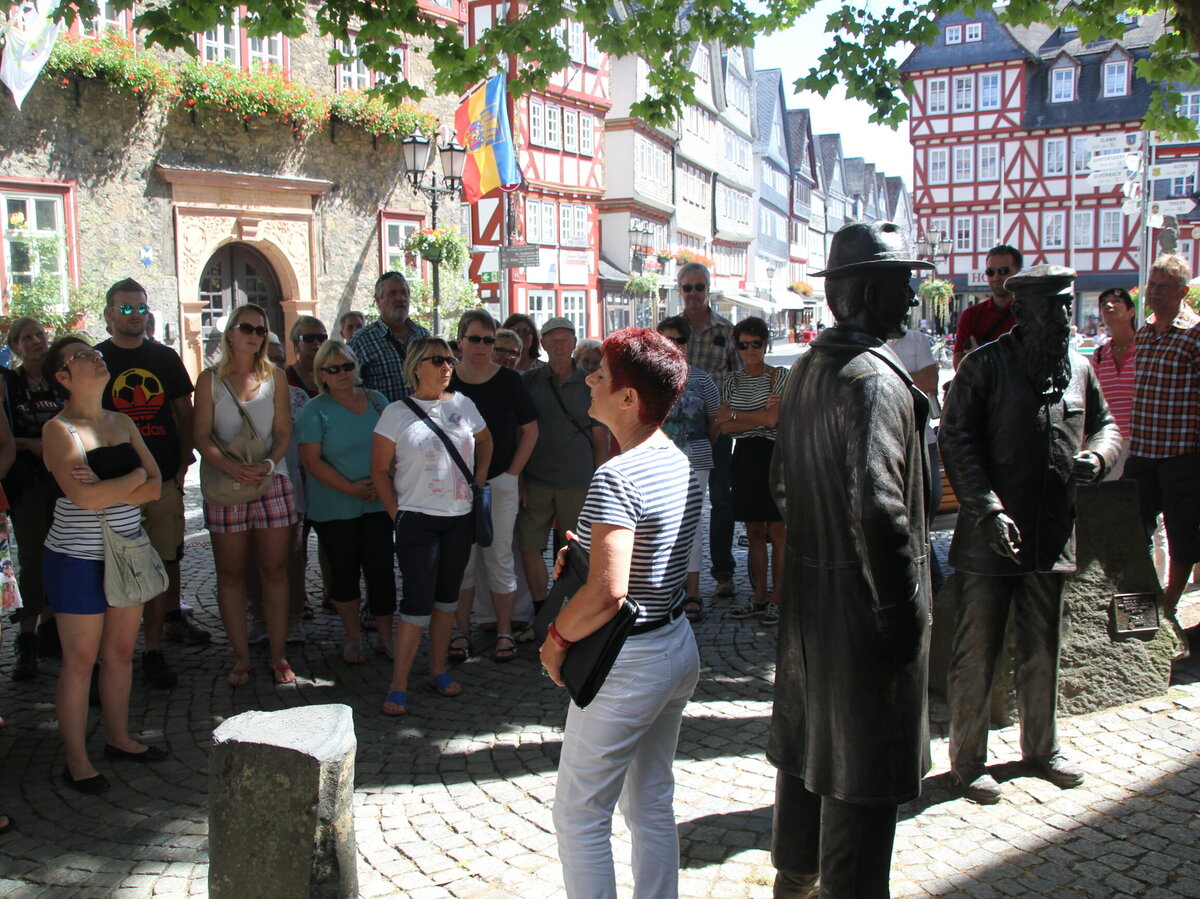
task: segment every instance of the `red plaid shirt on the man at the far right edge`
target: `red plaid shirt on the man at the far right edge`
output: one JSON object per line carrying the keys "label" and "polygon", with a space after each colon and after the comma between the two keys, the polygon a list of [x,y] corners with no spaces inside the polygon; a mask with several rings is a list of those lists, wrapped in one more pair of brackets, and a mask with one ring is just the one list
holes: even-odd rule
{"label": "red plaid shirt on the man at the far right edge", "polygon": [[1200,319],[1182,311],[1162,335],[1138,329],[1130,456],[1168,459],[1200,450]]}

